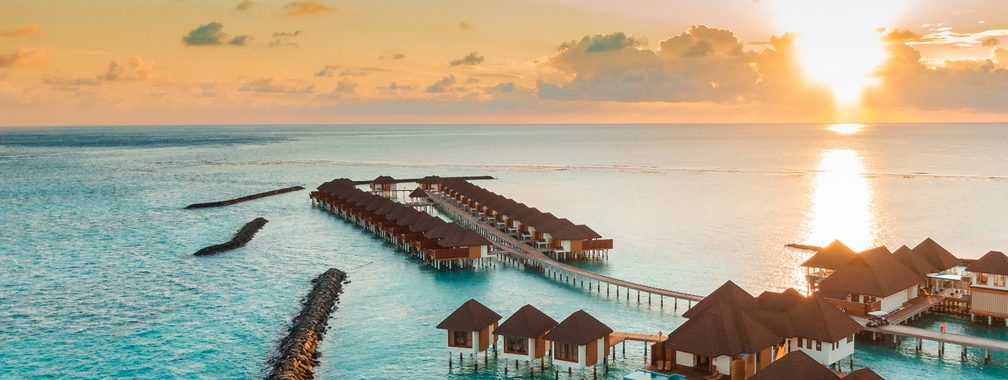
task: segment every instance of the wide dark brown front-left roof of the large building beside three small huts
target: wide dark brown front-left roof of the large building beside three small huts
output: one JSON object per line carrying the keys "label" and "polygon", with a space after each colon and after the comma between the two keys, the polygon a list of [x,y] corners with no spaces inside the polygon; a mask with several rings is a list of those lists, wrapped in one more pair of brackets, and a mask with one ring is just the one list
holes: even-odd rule
{"label": "wide dark brown front-left roof of the large building beside three small huts", "polygon": [[780,341],[746,309],[717,303],[669,333],[664,347],[714,358],[759,352]]}

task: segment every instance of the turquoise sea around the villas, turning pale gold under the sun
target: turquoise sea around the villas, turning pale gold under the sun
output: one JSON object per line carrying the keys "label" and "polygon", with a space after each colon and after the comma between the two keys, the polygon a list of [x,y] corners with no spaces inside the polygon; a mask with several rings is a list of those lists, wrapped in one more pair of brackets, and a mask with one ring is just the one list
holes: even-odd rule
{"label": "turquoise sea around the villas, turning pale gold under the sun", "polygon": [[[618,331],[682,319],[506,266],[435,272],[309,207],[305,192],[196,202],[339,176],[490,174],[481,185],[616,240],[609,275],[706,294],[803,288],[807,252],[925,237],[962,257],[1008,249],[1005,125],[338,126],[0,130],[0,378],[250,378],[328,267],[350,272],[324,378],[494,378],[448,368],[436,325],[475,297],[503,315],[584,308]],[[853,133],[852,133],[853,132]],[[255,217],[245,248],[192,253]],[[936,329],[933,318],[921,326]],[[951,330],[1008,339],[949,320]],[[974,352],[859,343],[887,378],[1004,378]],[[643,361],[630,344],[610,378]],[[522,373],[524,374],[525,369]],[[513,375],[514,372],[512,371]],[[527,375],[524,375],[527,377]],[[589,374],[589,377],[591,375]],[[548,376],[545,378],[549,378]]]}

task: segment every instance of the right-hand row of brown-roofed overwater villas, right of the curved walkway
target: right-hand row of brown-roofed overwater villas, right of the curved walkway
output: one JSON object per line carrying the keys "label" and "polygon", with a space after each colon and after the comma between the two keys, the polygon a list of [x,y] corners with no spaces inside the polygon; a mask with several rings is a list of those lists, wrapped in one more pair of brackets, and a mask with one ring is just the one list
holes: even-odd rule
{"label": "right-hand row of brown-roofed overwater villas, right of the curved walkway", "polygon": [[613,248],[612,239],[602,239],[586,225],[543,213],[467,180],[424,177],[420,187],[440,192],[481,221],[557,258],[605,257]]}

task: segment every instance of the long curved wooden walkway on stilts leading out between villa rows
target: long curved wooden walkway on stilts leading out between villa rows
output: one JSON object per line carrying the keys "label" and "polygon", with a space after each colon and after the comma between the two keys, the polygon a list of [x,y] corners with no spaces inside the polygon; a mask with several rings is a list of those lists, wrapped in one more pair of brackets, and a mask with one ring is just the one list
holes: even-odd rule
{"label": "long curved wooden walkway on stilts leading out between villa rows", "polygon": [[[531,266],[542,270],[543,274],[546,276],[558,279],[561,281],[571,281],[572,284],[577,284],[577,281],[581,281],[581,286],[584,287],[585,281],[588,281],[588,289],[591,291],[593,288],[592,281],[595,281],[595,289],[598,292],[602,292],[601,284],[606,284],[606,293],[609,294],[609,287],[616,287],[616,295],[619,297],[620,288],[624,288],[627,291],[626,298],[630,298],[629,290],[637,291],[637,300],[640,301],[641,293],[647,295],[648,304],[651,303],[651,296],[657,295],[659,304],[664,307],[664,298],[669,297],[673,300],[682,299],[686,300],[687,307],[691,306],[692,302],[700,301],[704,299],[703,295],[689,294],[681,291],[662,289],[659,287],[644,285],[636,282],[626,281],[615,277],[610,277],[604,274],[595,273],[592,271],[584,270],[575,266],[566,265],[557,262],[548,256],[542,254],[539,250],[525,244],[524,242],[515,239],[514,237],[501,232],[500,230],[494,228],[493,226],[481,221],[478,217],[462,210],[455,202],[446,199],[445,197],[436,194],[436,192],[426,192],[430,201],[433,202],[434,206],[440,210],[443,213],[452,217],[456,222],[466,226],[474,231],[478,232],[483,237],[489,239],[497,246],[498,250],[503,256],[507,258],[520,262],[526,266]],[[678,307],[676,302],[674,307]]]}

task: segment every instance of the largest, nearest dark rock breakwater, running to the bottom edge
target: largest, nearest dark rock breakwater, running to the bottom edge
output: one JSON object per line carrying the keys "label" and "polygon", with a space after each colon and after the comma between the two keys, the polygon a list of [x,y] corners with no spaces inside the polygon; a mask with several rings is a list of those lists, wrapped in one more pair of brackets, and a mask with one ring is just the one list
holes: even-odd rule
{"label": "largest, nearest dark rock breakwater, running to the bottom edge", "polygon": [[313,286],[299,312],[292,321],[287,336],[280,341],[276,357],[270,361],[272,370],[267,380],[310,379],[319,364],[319,342],[326,335],[329,316],[340,301],[347,273],[330,268],[311,280]]}

